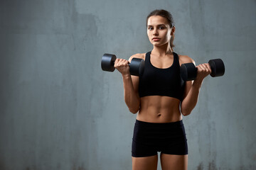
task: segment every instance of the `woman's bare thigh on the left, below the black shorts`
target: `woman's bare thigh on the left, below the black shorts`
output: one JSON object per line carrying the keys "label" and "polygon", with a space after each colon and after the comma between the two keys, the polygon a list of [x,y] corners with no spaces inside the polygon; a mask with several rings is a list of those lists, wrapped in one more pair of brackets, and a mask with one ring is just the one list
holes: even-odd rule
{"label": "woman's bare thigh on the left, below the black shorts", "polygon": [[151,157],[132,157],[132,170],[156,170],[157,154]]}

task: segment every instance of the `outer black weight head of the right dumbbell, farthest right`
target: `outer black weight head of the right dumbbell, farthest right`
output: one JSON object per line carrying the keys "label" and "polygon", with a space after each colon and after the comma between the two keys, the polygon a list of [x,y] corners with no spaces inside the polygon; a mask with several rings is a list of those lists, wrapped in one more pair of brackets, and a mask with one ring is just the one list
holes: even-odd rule
{"label": "outer black weight head of the right dumbbell, farthest right", "polygon": [[214,59],[209,60],[208,62],[210,64],[210,69],[212,72],[210,73],[211,77],[221,77],[225,73],[225,65],[223,60],[221,59]]}

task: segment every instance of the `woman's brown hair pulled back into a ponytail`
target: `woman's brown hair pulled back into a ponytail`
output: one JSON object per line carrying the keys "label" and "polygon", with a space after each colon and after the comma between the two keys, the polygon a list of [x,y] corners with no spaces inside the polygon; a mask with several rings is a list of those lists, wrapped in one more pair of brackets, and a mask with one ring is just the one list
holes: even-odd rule
{"label": "woman's brown hair pulled back into a ponytail", "polygon": [[[149,15],[146,17],[146,26],[147,26],[149,17],[151,16],[162,16],[166,18],[166,20],[168,21],[170,28],[174,27],[174,18],[171,16],[171,13],[169,13],[169,11],[165,11],[164,9],[156,9],[154,11],[151,11],[151,13],[149,13]],[[171,50],[173,50],[173,47],[175,47],[174,35],[171,35],[170,45],[171,45]]]}

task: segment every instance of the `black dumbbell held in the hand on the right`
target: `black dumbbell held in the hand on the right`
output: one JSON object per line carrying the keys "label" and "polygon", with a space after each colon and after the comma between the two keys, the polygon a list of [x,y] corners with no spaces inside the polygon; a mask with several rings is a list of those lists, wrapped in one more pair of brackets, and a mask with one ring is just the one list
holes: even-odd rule
{"label": "black dumbbell held in the hand on the right", "polygon": [[[225,73],[225,65],[223,60],[214,59],[209,60],[210,69],[212,72],[210,73],[211,77],[221,77]],[[193,63],[181,64],[181,78],[183,81],[191,81],[196,79],[197,68]]]}

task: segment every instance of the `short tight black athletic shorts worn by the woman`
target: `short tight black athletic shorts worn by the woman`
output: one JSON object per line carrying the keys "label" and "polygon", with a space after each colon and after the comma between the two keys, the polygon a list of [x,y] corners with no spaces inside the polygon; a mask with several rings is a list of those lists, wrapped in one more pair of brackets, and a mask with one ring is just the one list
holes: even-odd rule
{"label": "short tight black athletic shorts worn by the woman", "polygon": [[132,138],[132,157],[163,154],[188,154],[182,120],[174,123],[147,123],[136,120]]}

